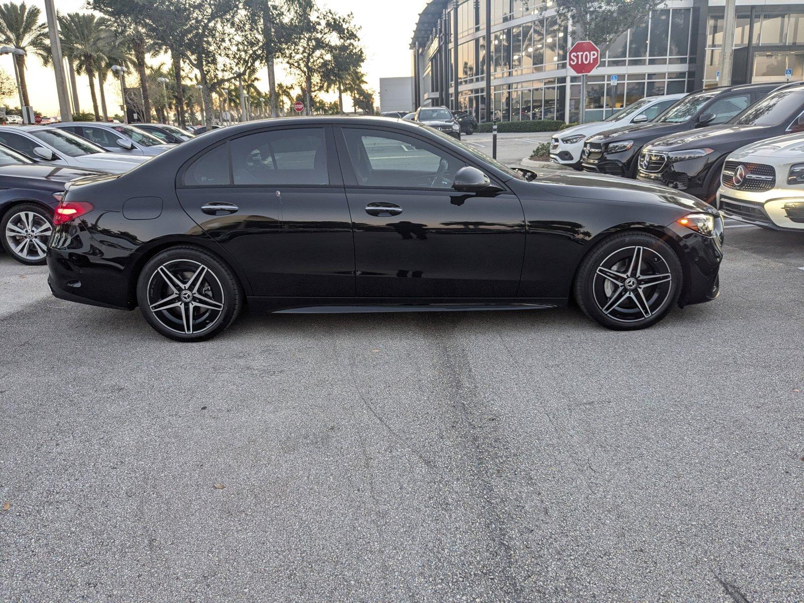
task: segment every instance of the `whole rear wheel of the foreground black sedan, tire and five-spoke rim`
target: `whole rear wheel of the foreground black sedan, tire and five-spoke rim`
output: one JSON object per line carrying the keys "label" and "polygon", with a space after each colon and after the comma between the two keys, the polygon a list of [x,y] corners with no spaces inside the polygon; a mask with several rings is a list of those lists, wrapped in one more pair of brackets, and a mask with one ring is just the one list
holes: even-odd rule
{"label": "whole rear wheel of the foreground black sedan, tire and five-spoke rim", "polygon": [[215,337],[235,321],[244,293],[232,269],[191,245],[159,252],[137,279],[137,304],[150,326],[176,341]]}

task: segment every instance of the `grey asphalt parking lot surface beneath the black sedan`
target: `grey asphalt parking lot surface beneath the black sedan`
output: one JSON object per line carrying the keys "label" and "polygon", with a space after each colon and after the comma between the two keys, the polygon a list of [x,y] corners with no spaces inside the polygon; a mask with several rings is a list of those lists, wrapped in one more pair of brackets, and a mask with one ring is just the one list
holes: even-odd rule
{"label": "grey asphalt parking lot surface beneath the black sedan", "polygon": [[726,234],[719,299],[626,333],[246,314],[186,345],[0,256],[0,600],[801,601],[804,234]]}

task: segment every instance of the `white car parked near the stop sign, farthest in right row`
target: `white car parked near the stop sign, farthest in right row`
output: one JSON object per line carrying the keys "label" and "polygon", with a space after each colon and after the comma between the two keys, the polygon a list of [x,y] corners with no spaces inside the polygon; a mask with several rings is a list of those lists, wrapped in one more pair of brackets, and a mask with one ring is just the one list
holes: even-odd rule
{"label": "white car parked near the stop sign, farthest in right row", "polygon": [[643,124],[653,121],[670,109],[686,94],[666,94],[664,96],[648,96],[628,105],[606,117],[603,121],[591,121],[586,124],[573,125],[556,133],[550,141],[550,161],[563,166],[572,166],[580,170],[580,151],[584,150],[584,141],[593,134],[609,129],[621,128],[624,125]]}

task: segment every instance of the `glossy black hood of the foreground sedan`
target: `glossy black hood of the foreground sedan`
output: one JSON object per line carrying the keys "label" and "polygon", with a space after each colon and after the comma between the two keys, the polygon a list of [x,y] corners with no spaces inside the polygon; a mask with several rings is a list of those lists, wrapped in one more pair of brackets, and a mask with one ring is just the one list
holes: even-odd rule
{"label": "glossy black hood of the foreground sedan", "polygon": [[544,170],[533,181],[538,187],[547,188],[553,195],[589,199],[610,203],[642,203],[649,205],[675,205],[683,211],[702,211],[716,214],[717,210],[679,191],[658,184],[643,183],[630,178],[618,178],[593,172],[574,170]]}

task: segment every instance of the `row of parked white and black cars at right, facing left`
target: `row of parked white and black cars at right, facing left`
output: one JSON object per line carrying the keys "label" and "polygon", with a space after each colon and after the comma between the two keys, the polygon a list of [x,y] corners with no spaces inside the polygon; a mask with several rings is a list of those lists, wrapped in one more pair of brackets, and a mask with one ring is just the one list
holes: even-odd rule
{"label": "row of parked white and black cars at right, facing left", "polygon": [[804,231],[804,82],[642,99],[556,134],[550,158],[684,191],[749,224]]}

